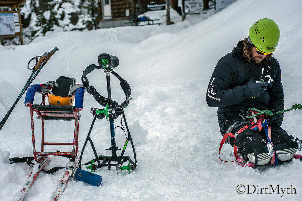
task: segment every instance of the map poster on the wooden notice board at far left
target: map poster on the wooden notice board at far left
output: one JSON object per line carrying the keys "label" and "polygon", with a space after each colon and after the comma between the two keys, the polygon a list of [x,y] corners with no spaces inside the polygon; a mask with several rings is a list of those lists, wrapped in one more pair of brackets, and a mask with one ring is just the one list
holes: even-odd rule
{"label": "map poster on the wooden notice board at far left", "polygon": [[21,32],[21,24],[19,20],[19,13],[1,11],[0,12],[0,36],[2,35],[16,35]]}

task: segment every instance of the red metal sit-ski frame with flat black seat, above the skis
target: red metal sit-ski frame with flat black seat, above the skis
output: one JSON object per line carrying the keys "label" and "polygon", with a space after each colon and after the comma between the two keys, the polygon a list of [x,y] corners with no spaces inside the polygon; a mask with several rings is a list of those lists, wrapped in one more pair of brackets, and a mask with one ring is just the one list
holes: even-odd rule
{"label": "red metal sit-ski frame with flat black seat, above the skis", "polygon": [[[45,104],[45,103],[44,103]],[[32,105],[31,107],[31,133],[33,139],[34,159],[37,161],[37,155],[59,155],[74,159],[78,154],[78,138],[79,138],[79,109],[72,105]],[[41,152],[36,151],[35,135],[34,135],[34,117],[33,112],[36,112],[42,120],[42,139]],[[48,119],[55,120],[75,120],[75,129],[73,142],[44,142],[44,122]],[[44,145],[72,145],[71,152],[44,152]]]}

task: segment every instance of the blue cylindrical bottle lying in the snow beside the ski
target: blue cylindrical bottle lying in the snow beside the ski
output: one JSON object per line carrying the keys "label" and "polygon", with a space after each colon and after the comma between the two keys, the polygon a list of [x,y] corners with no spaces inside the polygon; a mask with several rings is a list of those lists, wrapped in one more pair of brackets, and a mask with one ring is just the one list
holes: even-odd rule
{"label": "blue cylindrical bottle lying in the snow beside the ski", "polygon": [[102,182],[102,176],[92,173],[92,172],[88,172],[86,170],[82,170],[79,168],[71,168],[70,170],[70,177],[76,179],[76,180],[80,180],[83,181],[85,183],[88,183],[90,185],[93,186],[99,186],[101,185]]}

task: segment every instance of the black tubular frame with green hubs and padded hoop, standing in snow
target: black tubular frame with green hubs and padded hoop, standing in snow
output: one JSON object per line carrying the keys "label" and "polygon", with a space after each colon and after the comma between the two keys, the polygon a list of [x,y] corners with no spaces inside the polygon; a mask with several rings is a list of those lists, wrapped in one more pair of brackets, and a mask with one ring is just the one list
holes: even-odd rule
{"label": "black tubular frame with green hubs and padded hoop, standing in snow", "polygon": [[[95,98],[95,100],[100,105],[102,105],[104,108],[101,108],[101,109],[91,108],[91,113],[94,116],[94,118],[92,120],[90,130],[88,132],[86,141],[84,143],[84,146],[83,146],[83,149],[81,152],[79,164],[81,165],[82,155],[83,155],[85,146],[86,146],[87,142],[89,141],[92,146],[92,150],[94,152],[95,159],[88,161],[84,165],[88,166],[87,168],[90,169],[91,172],[94,172],[94,170],[96,170],[100,167],[108,167],[108,170],[111,170],[111,167],[115,167],[117,172],[118,172],[118,170],[128,170],[130,172],[130,170],[134,170],[137,167],[137,160],[136,160],[136,154],[135,154],[133,141],[132,141],[132,138],[130,135],[130,131],[129,131],[129,128],[127,125],[127,121],[126,121],[123,109],[127,107],[128,103],[130,101],[131,89],[130,89],[129,84],[126,82],[126,80],[122,79],[117,73],[115,73],[113,71],[113,69],[115,67],[117,67],[119,64],[119,60],[116,56],[111,56],[109,54],[102,53],[98,56],[98,63],[100,64],[99,66],[96,66],[95,64],[90,64],[89,66],[86,67],[86,69],[83,71],[82,83],[85,86],[85,88],[87,89],[87,92],[89,94],[92,94],[92,96]],[[89,82],[88,82],[86,75],[95,69],[102,69],[102,70],[104,70],[104,73],[106,74],[108,98],[101,96],[93,86],[89,86]],[[110,73],[112,73],[115,77],[117,77],[117,79],[120,80],[120,86],[122,87],[122,89],[125,93],[125,96],[126,96],[126,99],[120,105],[118,105],[118,103],[116,101],[113,101],[111,98]],[[126,130],[127,130],[127,133],[128,133],[128,137],[124,144],[124,148],[121,151],[121,154],[118,156],[117,151],[121,150],[121,148],[120,149],[117,148],[117,145],[115,142],[114,119],[117,119],[119,116],[121,116],[120,128],[122,128],[122,130],[125,132],[125,129],[122,125],[122,121],[124,120],[124,124],[125,124]],[[95,150],[95,147],[93,145],[92,139],[90,138],[90,133],[92,131],[96,118],[103,119],[105,117],[107,120],[109,120],[110,135],[111,135],[111,147],[106,150],[110,150],[112,152],[112,155],[98,156],[98,154]],[[126,132],[125,132],[125,134],[126,134]],[[129,141],[131,142],[131,145],[132,145],[134,161],[131,160],[129,156],[124,156],[124,153],[125,153],[125,150],[127,148],[127,144]],[[97,161],[97,163],[98,163],[97,165],[94,163],[95,161]],[[122,166],[122,164],[126,161],[129,162],[128,165]]]}

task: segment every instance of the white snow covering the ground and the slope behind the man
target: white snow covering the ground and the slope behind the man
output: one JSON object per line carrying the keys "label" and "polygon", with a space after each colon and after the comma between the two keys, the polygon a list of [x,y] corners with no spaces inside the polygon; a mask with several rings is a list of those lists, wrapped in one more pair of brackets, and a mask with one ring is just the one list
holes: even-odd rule
{"label": "white snow covering the ground and the slope behind the man", "polygon": [[[206,16],[207,19],[204,14],[191,15],[181,22],[181,17],[173,12],[171,21],[175,24],[169,26],[164,25],[164,17],[159,16],[163,22],[160,26],[55,32],[28,45],[0,46],[0,119],[30,76],[27,62],[32,57],[55,46],[59,48],[32,84],[53,81],[59,76],[74,77],[81,83],[85,67],[97,64],[100,53],[109,53],[119,58],[120,65],[115,72],[127,80],[132,89],[133,99],[125,114],[138,168],[130,174],[98,169],[95,173],[103,176],[99,187],[71,179],[62,200],[301,200],[302,163],[298,160],[254,170],[218,159],[221,135],[217,109],[208,107],[205,102],[207,85],[217,61],[247,37],[255,21],[271,18],[281,32],[274,57],[281,65],[285,109],[302,103],[301,6],[302,2],[296,0],[238,0]],[[102,70],[88,74],[88,79],[99,93],[107,94]],[[111,76],[111,86],[113,99],[122,102],[124,93],[114,76]],[[34,103],[39,104],[40,100],[37,94]],[[24,96],[0,131],[0,200],[13,200],[32,170],[27,164],[9,164],[8,161],[15,156],[32,156],[30,112],[23,102]],[[81,111],[79,152],[92,122],[91,107],[101,108],[86,93]],[[302,138],[301,118],[300,110],[286,112],[282,128]],[[39,125],[39,121],[35,120],[35,125]],[[72,133],[73,128],[65,123],[48,123],[48,139],[67,139],[66,133]],[[115,125],[119,125],[119,121],[115,121]],[[106,120],[95,122],[91,137],[99,155],[111,153],[105,151],[111,146],[109,133]],[[124,133],[117,130],[116,139],[117,146],[122,148]],[[129,145],[126,155],[132,157]],[[82,161],[93,157],[88,144]],[[220,157],[232,160],[232,148],[225,145]],[[51,156],[45,169],[63,166],[66,162],[64,158]],[[51,200],[62,174],[63,170],[54,174],[40,173],[25,199]],[[243,187],[244,193],[236,192]]]}

